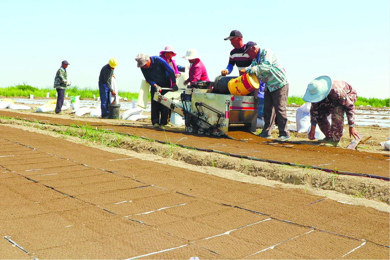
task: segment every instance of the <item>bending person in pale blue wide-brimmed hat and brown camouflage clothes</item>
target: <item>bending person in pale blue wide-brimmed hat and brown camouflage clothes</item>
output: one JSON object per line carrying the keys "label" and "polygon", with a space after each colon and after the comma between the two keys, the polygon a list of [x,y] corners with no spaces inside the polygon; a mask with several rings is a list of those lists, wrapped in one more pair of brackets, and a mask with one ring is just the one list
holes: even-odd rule
{"label": "bending person in pale blue wide-brimmed hat and brown camouflage clothes", "polygon": [[[312,124],[308,137],[314,140],[316,125],[318,124],[325,138],[318,140],[328,147],[339,147],[340,138],[344,129],[344,112],[349,125],[349,138],[359,139],[355,128],[356,91],[351,85],[342,80],[331,80],[328,76],[321,76],[312,80],[307,86],[303,100],[312,103],[310,108],[310,122]],[[332,114],[332,126],[327,119]]]}

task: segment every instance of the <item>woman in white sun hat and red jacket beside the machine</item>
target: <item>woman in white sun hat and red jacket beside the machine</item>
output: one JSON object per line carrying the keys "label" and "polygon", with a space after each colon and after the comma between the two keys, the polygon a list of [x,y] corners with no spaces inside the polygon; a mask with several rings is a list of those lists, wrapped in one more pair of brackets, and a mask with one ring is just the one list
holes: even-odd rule
{"label": "woman in white sun hat and red jacket beside the machine", "polygon": [[188,49],[186,55],[181,57],[190,62],[190,71],[188,73],[188,80],[184,81],[184,85],[193,82],[193,81],[210,81],[207,76],[206,67],[204,67],[203,62],[200,60],[200,56],[195,49]]}

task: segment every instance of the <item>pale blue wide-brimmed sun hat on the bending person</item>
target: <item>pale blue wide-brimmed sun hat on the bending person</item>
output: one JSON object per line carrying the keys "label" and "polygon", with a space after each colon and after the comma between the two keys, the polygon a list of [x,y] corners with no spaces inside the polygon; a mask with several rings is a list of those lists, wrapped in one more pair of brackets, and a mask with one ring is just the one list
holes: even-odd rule
{"label": "pale blue wide-brimmed sun hat on the bending person", "polygon": [[321,76],[312,80],[307,85],[303,100],[310,103],[317,103],[324,100],[328,96],[330,89],[332,88],[332,80],[328,76]]}

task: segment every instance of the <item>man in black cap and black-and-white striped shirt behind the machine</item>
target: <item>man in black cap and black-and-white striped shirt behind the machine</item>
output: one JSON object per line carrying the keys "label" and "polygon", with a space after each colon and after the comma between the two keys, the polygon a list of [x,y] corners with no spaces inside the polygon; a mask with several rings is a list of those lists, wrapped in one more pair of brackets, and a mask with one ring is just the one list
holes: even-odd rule
{"label": "man in black cap and black-and-white striped shirt behind the machine", "polygon": [[226,37],[224,40],[230,40],[230,44],[232,44],[234,49],[230,51],[229,64],[226,69],[221,71],[222,76],[230,74],[234,65],[237,65],[238,70],[240,71],[252,64],[252,61],[249,59],[247,54],[242,56],[245,51],[245,44],[243,43],[243,35],[239,30],[232,30],[232,32],[230,32],[230,36]]}

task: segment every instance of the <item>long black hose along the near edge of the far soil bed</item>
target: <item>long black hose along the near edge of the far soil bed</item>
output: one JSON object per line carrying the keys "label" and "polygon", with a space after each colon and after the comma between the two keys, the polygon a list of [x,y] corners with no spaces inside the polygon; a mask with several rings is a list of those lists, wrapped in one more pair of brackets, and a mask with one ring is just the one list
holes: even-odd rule
{"label": "long black hose along the near edge of the far soil bed", "polygon": [[[127,134],[127,133],[119,133],[119,132],[117,132],[117,133],[118,134],[123,134],[123,135],[128,135],[128,136],[133,136],[133,135]],[[166,142],[166,141],[154,140],[154,139],[150,139],[150,138],[146,138],[146,137],[140,137],[140,136],[137,136],[137,137],[145,139],[145,140],[152,140],[152,141],[155,141],[155,142],[158,142],[158,143],[162,143],[162,144],[168,144],[169,143],[169,142]],[[218,150],[204,149],[204,148],[198,148],[198,147],[191,147],[191,146],[188,146],[188,145],[180,145],[180,144],[175,144],[175,145],[180,146],[182,148],[193,149],[193,150],[198,150],[198,151],[202,151],[202,152],[215,152],[215,153],[218,153],[218,154],[223,154],[223,155],[227,155],[227,156],[237,157],[237,158],[241,158],[241,159],[262,161],[262,162],[266,162],[266,163],[283,164],[283,165],[289,165],[289,166],[296,166],[296,167],[300,167],[300,168],[310,168],[310,169],[316,169],[316,170],[320,170],[320,171],[324,171],[324,172],[331,172],[331,173],[335,173],[335,174],[344,174],[344,175],[369,177],[369,178],[374,178],[374,179],[390,180],[389,177],[372,175],[372,174],[367,174],[367,173],[343,172],[343,171],[338,171],[338,170],[320,168],[320,167],[311,166],[311,165],[296,164],[296,163],[285,163],[285,162],[281,162],[281,161],[274,161],[274,160],[269,160],[269,159],[261,159],[261,158],[257,158],[257,157],[251,157],[251,156],[245,156],[245,155],[243,156],[243,155],[239,155],[239,154],[231,154],[231,153],[228,153],[228,152],[221,152],[221,151],[218,151]]]}

